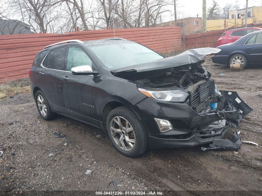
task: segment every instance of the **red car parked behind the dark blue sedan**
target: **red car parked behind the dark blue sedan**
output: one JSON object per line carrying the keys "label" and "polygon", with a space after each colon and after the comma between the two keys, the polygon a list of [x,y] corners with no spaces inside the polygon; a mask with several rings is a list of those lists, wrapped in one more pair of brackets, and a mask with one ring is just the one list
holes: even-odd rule
{"label": "red car parked behind the dark blue sedan", "polygon": [[229,31],[225,31],[218,39],[216,46],[232,43],[248,33],[252,33],[254,31],[260,31],[260,30],[262,30],[262,28],[247,27],[247,28],[237,28],[237,29],[231,29]]}

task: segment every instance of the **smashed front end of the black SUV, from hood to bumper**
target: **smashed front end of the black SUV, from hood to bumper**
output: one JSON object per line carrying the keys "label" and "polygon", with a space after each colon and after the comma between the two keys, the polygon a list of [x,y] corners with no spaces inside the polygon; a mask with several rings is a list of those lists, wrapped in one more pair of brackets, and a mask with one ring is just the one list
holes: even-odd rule
{"label": "smashed front end of the black SUV, from hood to bumper", "polygon": [[[193,49],[143,66],[135,65],[132,69],[111,70],[114,76],[134,82],[149,98],[133,107],[149,131],[154,129],[150,121],[153,118],[174,123],[168,133],[149,133],[151,149],[204,144],[210,144],[207,148],[202,147],[204,151],[240,148],[238,122],[252,109],[237,92],[218,92],[215,82],[210,79],[211,74],[201,66],[207,54],[219,51]],[[180,129],[179,124],[184,123],[189,127],[188,131]]]}

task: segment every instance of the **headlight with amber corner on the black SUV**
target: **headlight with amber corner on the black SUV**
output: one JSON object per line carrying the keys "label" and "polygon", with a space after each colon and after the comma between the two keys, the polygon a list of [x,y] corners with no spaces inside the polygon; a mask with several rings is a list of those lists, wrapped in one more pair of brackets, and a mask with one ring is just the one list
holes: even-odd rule
{"label": "headlight with amber corner on the black SUV", "polygon": [[166,90],[166,91],[150,91],[147,89],[138,88],[140,93],[144,94],[147,97],[153,97],[160,101],[169,101],[169,102],[184,102],[188,97],[188,93],[175,89],[175,90]]}

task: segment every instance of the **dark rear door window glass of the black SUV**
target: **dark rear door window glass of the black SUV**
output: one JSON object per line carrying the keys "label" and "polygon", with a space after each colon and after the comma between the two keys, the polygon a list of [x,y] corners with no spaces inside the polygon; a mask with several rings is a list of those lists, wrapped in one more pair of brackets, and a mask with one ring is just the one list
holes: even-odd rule
{"label": "dark rear door window glass of the black SUV", "polygon": [[64,56],[66,47],[57,48],[50,51],[48,68],[64,70]]}

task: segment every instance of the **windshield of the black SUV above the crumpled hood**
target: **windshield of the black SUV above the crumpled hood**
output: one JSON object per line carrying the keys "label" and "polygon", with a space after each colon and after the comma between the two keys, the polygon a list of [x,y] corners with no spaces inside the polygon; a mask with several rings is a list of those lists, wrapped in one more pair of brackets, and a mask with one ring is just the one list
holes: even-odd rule
{"label": "windshield of the black SUV above the crumpled hood", "polygon": [[90,46],[90,49],[109,69],[148,63],[164,58],[153,50],[135,42],[96,45]]}

